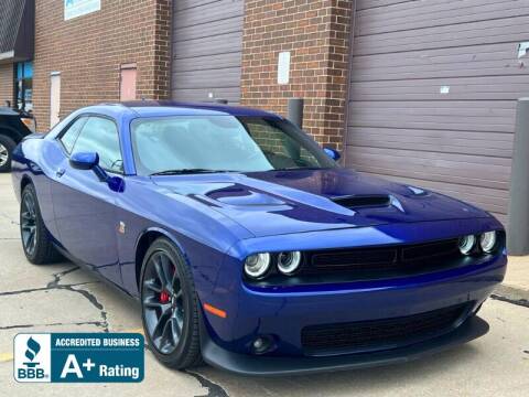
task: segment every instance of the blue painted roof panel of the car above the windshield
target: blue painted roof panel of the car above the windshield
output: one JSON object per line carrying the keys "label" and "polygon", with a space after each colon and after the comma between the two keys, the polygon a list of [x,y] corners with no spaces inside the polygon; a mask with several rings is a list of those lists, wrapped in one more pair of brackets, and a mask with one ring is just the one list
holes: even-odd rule
{"label": "blue painted roof panel of the car above the windshield", "polygon": [[[108,104],[112,105],[112,104]],[[118,105],[118,104],[114,104]],[[242,106],[229,106],[222,104],[193,104],[179,103],[173,100],[134,100],[119,104],[128,107],[139,116],[258,116],[258,117],[279,117],[264,110],[247,108]]]}

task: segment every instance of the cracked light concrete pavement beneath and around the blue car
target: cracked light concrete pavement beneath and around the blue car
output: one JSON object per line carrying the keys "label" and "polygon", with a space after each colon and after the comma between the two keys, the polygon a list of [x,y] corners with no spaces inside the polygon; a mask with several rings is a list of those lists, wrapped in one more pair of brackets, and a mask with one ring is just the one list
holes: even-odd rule
{"label": "cracked light concrete pavement beneath and around the blue car", "polygon": [[[12,341],[19,332],[120,332],[141,328],[138,304],[73,264],[32,266],[22,253],[18,203],[9,174],[0,174],[0,396],[527,396],[529,304],[519,286],[522,265],[481,315],[490,332],[481,340],[404,365],[287,378],[247,378],[202,367],[180,373],[145,352],[145,379],[137,385],[17,384]],[[522,260],[520,260],[521,262]],[[528,260],[529,262],[529,260]],[[518,281],[517,281],[518,280]],[[518,282],[515,283],[515,282]],[[528,283],[529,286],[529,283]],[[529,290],[529,288],[528,288]]]}

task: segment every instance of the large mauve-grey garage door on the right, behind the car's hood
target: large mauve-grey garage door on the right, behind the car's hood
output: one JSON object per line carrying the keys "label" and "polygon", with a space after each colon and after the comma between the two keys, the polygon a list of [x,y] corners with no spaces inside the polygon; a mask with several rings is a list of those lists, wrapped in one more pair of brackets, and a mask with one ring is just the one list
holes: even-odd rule
{"label": "large mauve-grey garage door on the right, behind the car's hood", "polygon": [[506,221],[529,0],[357,0],[346,163]]}

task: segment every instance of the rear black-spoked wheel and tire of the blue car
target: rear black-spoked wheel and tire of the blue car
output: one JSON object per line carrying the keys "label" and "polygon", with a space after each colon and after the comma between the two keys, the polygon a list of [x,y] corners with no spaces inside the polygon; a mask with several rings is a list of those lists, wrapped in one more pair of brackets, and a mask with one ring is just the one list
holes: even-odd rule
{"label": "rear black-spoked wheel and tire of the blue car", "polygon": [[20,201],[20,236],[25,257],[33,265],[53,264],[61,258],[42,221],[35,187],[24,187]]}

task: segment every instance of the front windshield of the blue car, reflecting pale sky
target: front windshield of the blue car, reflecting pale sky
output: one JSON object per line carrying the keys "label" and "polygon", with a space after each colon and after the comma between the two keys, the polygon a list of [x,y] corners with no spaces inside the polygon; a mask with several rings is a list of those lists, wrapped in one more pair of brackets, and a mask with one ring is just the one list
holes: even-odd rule
{"label": "front windshield of the blue car, reflecting pale sky", "polygon": [[131,131],[140,175],[336,167],[309,136],[278,118],[140,118]]}

